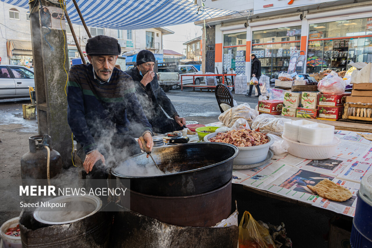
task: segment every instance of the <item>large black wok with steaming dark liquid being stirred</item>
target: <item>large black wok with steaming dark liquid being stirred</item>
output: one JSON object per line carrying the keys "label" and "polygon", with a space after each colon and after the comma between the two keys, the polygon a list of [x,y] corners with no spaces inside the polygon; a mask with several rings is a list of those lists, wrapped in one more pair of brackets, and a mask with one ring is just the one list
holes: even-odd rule
{"label": "large black wok with steaming dark liquid being stirred", "polygon": [[[134,155],[118,163],[112,174],[132,191],[148,195],[186,196],[202,194],[226,184],[232,177],[232,160],[236,146],[226,143],[193,143],[153,150],[151,155],[165,175],[130,175],[127,168],[154,166],[146,153]],[[152,164],[152,165],[151,165]],[[129,175],[125,175],[129,174]],[[128,180],[130,179],[130,186]]]}

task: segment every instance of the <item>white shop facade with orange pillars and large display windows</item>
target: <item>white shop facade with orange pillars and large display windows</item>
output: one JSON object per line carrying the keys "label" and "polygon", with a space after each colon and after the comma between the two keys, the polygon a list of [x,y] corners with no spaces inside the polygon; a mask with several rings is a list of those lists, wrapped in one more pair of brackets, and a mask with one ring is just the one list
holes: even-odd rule
{"label": "white shop facade with orange pillars and large display windows", "polygon": [[205,20],[206,24],[195,22],[202,27],[206,25],[202,36],[203,39],[207,36],[203,57],[210,59],[203,66],[208,72],[215,72],[215,67],[222,71],[224,67],[250,76],[251,53],[260,59],[262,73],[271,78],[288,70],[289,59],[296,52],[305,56],[304,73],[341,71],[347,70],[350,62],[372,62],[371,1],[237,3],[231,6],[227,0],[206,0],[206,7],[240,13]]}

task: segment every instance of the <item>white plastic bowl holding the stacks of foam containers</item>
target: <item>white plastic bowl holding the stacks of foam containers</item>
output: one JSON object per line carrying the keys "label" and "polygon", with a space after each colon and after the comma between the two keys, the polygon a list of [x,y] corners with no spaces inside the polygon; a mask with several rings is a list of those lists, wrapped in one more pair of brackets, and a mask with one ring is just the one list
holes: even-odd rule
{"label": "white plastic bowl holding the stacks of foam containers", "polygon": [[328,159],[333,157],[336,152],[337,146],[341,143],[341,140],[336,136],[333,137],[333,142],[327,145],[311,145],[289,140],[287,137],[282,135],[282,138],[289,144],[288,153],[304,159]]}

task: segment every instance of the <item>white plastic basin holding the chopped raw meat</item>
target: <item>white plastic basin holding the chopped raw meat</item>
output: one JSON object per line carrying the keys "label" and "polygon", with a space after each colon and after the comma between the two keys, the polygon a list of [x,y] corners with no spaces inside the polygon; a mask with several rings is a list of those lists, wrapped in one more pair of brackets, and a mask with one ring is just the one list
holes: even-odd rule
{"label": "white plastic basin holding the chopped raw meat", "polygon": [[[204,136],[204,142],[210,142],[209,139],[217,136],[216,133],[210,133]],[[250,165],[254,163],[263,162],[267,153],[269,152],[269,147],[274,143],[274,139],[271,137],[273,134],[267,134],[269,137],[269,142],[259,146],[248,146],[248,147],[238,147],[239,153],[234,158],[232,162],[233,165]]]}

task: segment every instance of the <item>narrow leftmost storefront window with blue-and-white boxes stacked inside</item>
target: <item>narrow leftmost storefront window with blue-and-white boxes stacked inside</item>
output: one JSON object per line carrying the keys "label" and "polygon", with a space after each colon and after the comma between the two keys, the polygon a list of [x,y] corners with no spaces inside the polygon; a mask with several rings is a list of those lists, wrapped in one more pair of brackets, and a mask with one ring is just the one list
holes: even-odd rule
{"label": "narrow leftmost storefront window with blue-and-white boxes stacked inside", "polygon": [[[223,69],[234,70],[237,75],[246,74],[247,32],[224,34]],[[222,71],[219,71],[222,73]]]}

